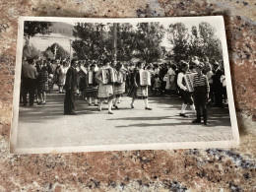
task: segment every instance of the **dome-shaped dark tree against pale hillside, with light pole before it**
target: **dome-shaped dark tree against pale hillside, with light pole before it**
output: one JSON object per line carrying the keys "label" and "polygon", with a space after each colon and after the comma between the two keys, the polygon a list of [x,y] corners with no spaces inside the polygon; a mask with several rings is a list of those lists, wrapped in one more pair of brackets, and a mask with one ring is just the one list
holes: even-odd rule
{"label": "dome-shaped dark tree against pale hillside, with light pole before it", "polygon": [[46,50],[44,51],[44,56],[46,58],[53,57],[53,59],[55,58],[64,59],[64,58],[70,57],[69,53],[56,42],[46,48]]}

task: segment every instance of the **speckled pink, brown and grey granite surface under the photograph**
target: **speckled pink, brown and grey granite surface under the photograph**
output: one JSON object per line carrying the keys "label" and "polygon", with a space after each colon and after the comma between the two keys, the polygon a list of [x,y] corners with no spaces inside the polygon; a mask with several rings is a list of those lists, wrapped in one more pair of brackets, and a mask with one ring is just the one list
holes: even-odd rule
{"label": "speckled pink, brown and grey granite surface under the photograph", "polygon": [[[0,191],[256,191],[255,0],[1,0]],[[19,16],[224,15],[238,149],[9,154]]]}

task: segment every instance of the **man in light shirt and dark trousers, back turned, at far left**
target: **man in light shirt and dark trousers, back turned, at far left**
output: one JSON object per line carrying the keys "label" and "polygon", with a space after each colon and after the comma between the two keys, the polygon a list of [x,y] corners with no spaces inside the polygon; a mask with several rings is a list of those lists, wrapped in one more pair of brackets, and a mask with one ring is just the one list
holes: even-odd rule
{"label": "man in light shirt and dark trousers, back turned, at far left", "polygon": [[24,106],[27,106],[27,95],[30,95],[30,106],[33,105],[35,85],[36,85],[37,72],[33,66],[33,59],[28,59],[28,63],[25,63],[22,68],[22,82],[23,82],[23,102]]}

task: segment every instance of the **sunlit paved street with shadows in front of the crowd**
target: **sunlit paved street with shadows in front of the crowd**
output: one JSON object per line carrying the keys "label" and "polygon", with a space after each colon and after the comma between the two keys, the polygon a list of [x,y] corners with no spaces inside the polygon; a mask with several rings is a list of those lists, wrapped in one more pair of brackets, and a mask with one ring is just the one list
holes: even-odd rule
{"label": "sunlit paved street with shadows in front of the crowd", "polygon": [[[63,115],[63,94],[47,97],[46,105],[20,107],[19,148],[147,144],[231,140],[227,108],[209,108],[209,126],[194,125],[191,111],[180,117],[180,98],[150,97],[152,111],[144,109],[143,100],[124,96],[119,110],[107,113],[78,98],[77,116]],[[188,108],[187,108],[188,109]]]}

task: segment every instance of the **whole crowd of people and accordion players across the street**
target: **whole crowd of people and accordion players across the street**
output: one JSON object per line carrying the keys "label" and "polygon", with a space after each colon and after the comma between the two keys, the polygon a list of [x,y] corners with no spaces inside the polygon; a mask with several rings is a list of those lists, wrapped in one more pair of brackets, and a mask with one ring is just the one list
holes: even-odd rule
{"label": "whole crowd of people and accordion players across the street", "polygon": [[[104,70],[112,72],[113,80],[103,82]],[[141,85],[141,72],[150,74],[150,85]],[[218,107],[226,104],[224,64],[207,57],[192,57],[178,63],[117,62],[103,60],[72,59],[37,59],[24,58],[22,66],[21,102],[24,106],[46,104],[46,96],[53,87],[58,87],[59,94],[65,94],[64,114],[75,115],[75,97],[88,100],[89,105],[96,105],[100,111],[102,103],[108,103],[108,113],[112,108],[119,109],[121,97],[130,96],[130,107],[135,107],[135,100],[142,99],[146,110],[149,96],[181,97],[180,116],[187,117],[185,109],[190,105],[196,113],[194,123],[201,122],[203,116],[207,125],[207,104]],[[191,87],[191,88],[190,88]]]}

